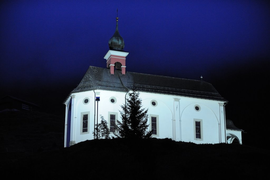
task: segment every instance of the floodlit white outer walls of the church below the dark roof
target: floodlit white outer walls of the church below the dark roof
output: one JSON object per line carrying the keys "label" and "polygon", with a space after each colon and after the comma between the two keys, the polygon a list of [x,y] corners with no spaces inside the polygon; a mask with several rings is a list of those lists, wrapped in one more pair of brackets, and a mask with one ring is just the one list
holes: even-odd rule
{"label": "floodlit white outer walls of the church below the dark roof", "polygon": [[[122,110],[120,105],[125,103],[125,96],[128,96],[126,92],[106,90],[95,90],[94,92],[92,90],[73,93],[70,141],[74,143],[94,138],[92,134],[94,130],[94,119],[95,124],[97,120],[95,93],[99,93],[96,96],[100,97],[100,101],[98,102],[98,121],[100,122],[100,116],[102,115],[109,122],[108,112],[118,113],[118,119],[121,120],[119,110]],[[110,102],[112,97],[116,100],[114,103]],[[87,104],[84,103],[85,98],[89,99]],[[176,141],[194,143],[226,142],[224,102],[145,92],[140,92],[140,98],[143,108],[149,109],[148,114],[158,115],[159,130],[158,136],[155,136],[156,138],[172,138]],[[151,105],[153,100],[156,102],[156,106]],[[69,101],[70,98],[67,100],[66,106],[68,106]],[[199,111],[194,109],[195,105],[200,107]],[[85,134],[81,133],[82,112],[89,112],[89,130]],[[196,140],[194,137],[194,119],[199,119],[202,122],[201,140]],[[239,133],[237,136],[239,136]]]}

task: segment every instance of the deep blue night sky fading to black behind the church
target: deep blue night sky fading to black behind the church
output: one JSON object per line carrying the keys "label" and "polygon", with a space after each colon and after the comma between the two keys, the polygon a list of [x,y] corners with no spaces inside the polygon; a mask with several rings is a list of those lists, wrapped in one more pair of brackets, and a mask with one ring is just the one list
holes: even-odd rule
{"label": "deep blue night sky fading to black behind the church", "polygon": [[64,114],[63,101],[88,67],[106,68],[118,9],[127,71],[196,80],[202,75],[229,101],[226,116],[247,129],[264,119],[254,108],[268,97],[266,2],[2,1],[1,96]]}

